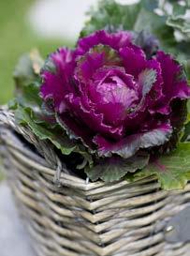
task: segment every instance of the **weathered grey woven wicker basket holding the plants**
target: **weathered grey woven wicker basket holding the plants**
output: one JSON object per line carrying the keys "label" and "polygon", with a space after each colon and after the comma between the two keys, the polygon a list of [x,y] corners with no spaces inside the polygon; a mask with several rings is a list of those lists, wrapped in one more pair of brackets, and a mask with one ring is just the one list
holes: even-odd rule
{"label": "weathered grey woven wicker basket holding the plants", "polygon": [[0,145],[9,185],[38,256],[190,255],[190,244],[165,241],[168,219],[190,205],[190,185],[168,192],[153,177],[134,184],[86,183],[66,171],[51,144],[38,141],[29,128],[17,127],[6,109],[0,110]]}

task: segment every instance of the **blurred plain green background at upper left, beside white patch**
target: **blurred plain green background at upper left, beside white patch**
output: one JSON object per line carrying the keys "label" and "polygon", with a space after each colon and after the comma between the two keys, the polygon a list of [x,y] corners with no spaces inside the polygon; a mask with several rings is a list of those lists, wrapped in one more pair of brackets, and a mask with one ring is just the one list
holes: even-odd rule
{"label": "blurred plain green background at upper left, beside white patch", "polygon": [[0,0],[0,105],[12,98],[12,71],[22,53],[37,48],[45,57],[58,46],[68,45],[61,39],[39,38],[32,31],[26,15],[34,0]]}

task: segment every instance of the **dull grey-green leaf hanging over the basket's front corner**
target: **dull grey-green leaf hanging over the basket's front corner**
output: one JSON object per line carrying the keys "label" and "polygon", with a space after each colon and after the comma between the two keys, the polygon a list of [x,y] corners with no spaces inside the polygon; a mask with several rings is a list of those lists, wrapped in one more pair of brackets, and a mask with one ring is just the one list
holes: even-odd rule
{"label": "dull grey-green leaf hanging over the basket's front corner", "polygon": [[146,166],[149,162],[149,155],[139,153],[132,158],[103,158],[93,168],[85,168],[88,177],[95,181],[102,179],[105,182],[120,180],[126,173],[134,173]]}

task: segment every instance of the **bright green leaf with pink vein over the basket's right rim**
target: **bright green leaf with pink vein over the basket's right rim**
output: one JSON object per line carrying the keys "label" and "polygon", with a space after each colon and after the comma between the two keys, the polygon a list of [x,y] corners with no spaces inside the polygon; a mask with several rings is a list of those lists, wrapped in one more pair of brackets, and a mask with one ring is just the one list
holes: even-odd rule
{"label": "bright green leaf with pink vein over the basket's right rim", "polygon": [[190,179],[190,143],[179,143],[169,155],[154,159],[143,170],[127,177],[130,181],[155,175],[166,190],[184,188]]}

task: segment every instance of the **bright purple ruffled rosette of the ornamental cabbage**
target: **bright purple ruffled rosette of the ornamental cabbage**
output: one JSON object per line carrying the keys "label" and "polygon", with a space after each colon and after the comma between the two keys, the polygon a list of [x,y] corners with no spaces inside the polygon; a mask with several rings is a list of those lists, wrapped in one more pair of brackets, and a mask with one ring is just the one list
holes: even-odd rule
{"label": "bright purple ruffled rosette of the ornamental cabbage", "polygon": [[126,31],[97,31],[76,50],[59,49],[41,77],[41,97],[51,99],[57,120],[99,157],[166,144],[190,98],[182,66],[161,51],[147,56]]}

